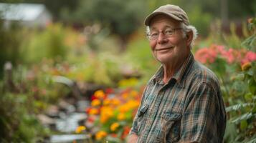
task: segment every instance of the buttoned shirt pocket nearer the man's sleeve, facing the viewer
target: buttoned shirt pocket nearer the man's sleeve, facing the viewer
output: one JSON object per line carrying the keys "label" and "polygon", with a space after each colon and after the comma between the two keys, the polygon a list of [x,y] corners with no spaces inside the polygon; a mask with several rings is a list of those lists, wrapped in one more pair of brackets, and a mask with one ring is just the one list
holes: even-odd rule
{"label": "buttoned shirt pocket nearer the man's sleeve, facing the viewer", "polygon": [[179,112],[165,112],[161,116],[161,133],[158,139],[161,142],[177,142],[180,138],[182,114]]}

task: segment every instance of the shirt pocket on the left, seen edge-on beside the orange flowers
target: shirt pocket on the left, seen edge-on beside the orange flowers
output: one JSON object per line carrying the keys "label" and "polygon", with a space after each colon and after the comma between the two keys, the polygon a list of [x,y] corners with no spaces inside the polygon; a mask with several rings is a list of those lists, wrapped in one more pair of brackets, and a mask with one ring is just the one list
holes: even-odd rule
{"label": "shirt pocket on the left, seen edge-on beside the orange flowers", "polygon": [[145,129],[146,123],[146,112],[148,110],[149,105],[145,104],[141,109],[138,110],[138,134],[141,134],[143,129]]}

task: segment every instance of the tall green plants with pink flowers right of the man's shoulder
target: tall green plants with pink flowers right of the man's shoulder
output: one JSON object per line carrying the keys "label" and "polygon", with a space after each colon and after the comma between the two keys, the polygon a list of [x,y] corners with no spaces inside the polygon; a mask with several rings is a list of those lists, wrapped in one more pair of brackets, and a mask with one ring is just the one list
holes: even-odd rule
{"label": "tall green plants with pink flowers right of the man's shoulder", "polygon": [[[249,22],[250,29],[253,31],[248,33],[255,36],[255,29],[252,29],[253,21],[254,19],[251,19]],[[250,36],[249,39],[242,42],[242,39],[235,34],[234,29],[233,24],[231,35],[224,35],[224,38],[220,34],[216,36],[216,39],[219,42],[224,42],[225,46],[214,44],[198,49],[195,57],[219,77],[228,115],[224,142],[254,142],[256,133],[256,54],[247,50],[250,50],[248,46],[255,48],[253,46],[255,37]],[[227,48],[230,46],[232,48]]]}

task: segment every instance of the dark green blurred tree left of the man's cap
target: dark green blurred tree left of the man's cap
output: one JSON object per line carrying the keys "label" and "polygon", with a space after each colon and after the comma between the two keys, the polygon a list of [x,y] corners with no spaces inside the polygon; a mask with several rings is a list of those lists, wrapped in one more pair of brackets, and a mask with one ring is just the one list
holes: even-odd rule
{"label": "dark green blurred tree left of the man's cap", "polygon": [[146,7],[143,1],[137,0],[81,0],[77,10],[65,19],[71,21],[95,24],[100,23],[104,27],[109,27],[113,34],[120,36],[121,51],[125,50],[128,36],[130,36],[143,21]]}

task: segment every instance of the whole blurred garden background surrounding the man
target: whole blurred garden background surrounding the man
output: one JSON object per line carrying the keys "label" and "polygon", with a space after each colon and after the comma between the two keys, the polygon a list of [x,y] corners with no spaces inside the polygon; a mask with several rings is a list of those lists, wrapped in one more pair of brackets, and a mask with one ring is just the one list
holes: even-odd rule
{"label": "whole blurred garden background surrounding the man", "polygon": [[0,142],[125,142],[158,69],[143,20],[179,5],[221,83],[224,142],[256,142],[256,1],[0,0]]}

